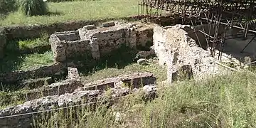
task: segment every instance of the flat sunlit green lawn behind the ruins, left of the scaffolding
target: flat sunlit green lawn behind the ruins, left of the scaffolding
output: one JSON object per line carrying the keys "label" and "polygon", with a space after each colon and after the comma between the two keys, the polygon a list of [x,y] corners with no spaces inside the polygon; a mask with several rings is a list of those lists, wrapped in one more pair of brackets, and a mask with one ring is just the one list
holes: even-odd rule
{"label": "flat sunlit green lawn behind the ruins, left of the scaffolding", "polygon": [[49,15],[26,17],[21,11],[18,11],[0,21],[0,26],[47,24],[74,20],[92,21],[137,14],[137,0],[71,1],[48,3],[48,7],[50,9]]}

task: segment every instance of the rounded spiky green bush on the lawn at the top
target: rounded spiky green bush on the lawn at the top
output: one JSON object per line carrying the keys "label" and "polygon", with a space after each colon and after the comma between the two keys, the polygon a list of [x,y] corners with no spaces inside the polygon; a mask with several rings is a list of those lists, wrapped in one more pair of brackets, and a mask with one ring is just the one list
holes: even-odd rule
{"label": "rounded spiky green bush on the lawn at the top", "polygon": [[37,16],[47,14],[48,7],[43,0],[21,0],[21,10],[26,16]]}

